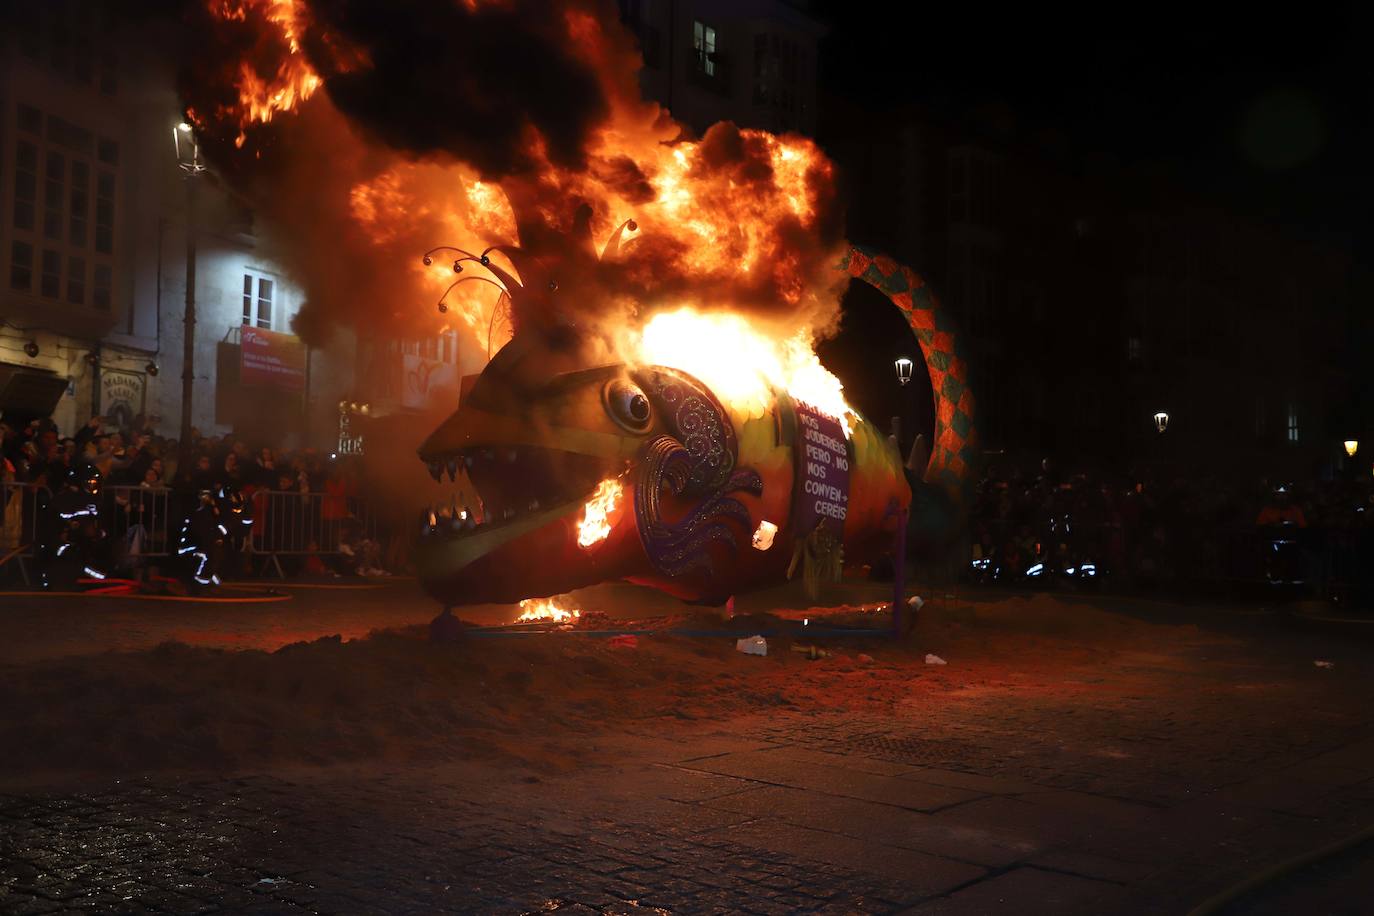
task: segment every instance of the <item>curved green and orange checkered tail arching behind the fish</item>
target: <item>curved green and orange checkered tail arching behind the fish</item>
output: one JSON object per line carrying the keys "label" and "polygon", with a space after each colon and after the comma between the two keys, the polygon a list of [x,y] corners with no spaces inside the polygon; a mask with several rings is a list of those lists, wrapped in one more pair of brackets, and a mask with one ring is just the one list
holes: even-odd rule
{"label": "curved green and orange checkered tail arching behind the fish", "polygon": [[840,269],[886,295],[916,335],[936,407],[934,444],[925,479],[966,508],[977,468],[978,430],[969,358],[952,316],[915,271],[883,254],[853,246]]}

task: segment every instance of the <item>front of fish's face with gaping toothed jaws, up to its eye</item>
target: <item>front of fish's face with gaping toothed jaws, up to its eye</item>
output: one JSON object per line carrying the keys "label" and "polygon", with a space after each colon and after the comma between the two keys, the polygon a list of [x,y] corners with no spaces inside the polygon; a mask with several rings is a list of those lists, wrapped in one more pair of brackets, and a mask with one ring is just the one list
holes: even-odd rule
{"label": "front of fish's face with gaping toothed jaws, up to its eye", "polygon": [[444,488],[419,519],[420,584],[474,604],[624,578],[643,559],[627,518],[628,470],[655,428],[643,391],[622,367],[559,374],[518,398],[499,380],[480,379],[420,446]]}

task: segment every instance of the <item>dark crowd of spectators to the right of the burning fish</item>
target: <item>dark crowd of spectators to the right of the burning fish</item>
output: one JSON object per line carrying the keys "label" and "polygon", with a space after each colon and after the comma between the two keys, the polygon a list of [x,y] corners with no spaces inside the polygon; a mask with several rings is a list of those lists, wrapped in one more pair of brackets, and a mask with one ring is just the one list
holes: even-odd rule
{"label": "dark crowd of spectators to the right of the burning fish", "polygon": [[1364,575],[1374,478],[1242,479],[989,467],[970,574],[1006,582],[1112,578],[1128,588],[1322,584]]}

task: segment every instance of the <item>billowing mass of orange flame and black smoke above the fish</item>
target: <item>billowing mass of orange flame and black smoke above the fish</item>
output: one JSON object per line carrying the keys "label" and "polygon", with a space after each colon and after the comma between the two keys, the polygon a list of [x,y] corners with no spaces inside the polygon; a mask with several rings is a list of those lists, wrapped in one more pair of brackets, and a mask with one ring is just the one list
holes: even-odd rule
{"label": "billowing mass of orange flame and black smoke above the fish", "polygon": [[[305,287],[312,342],[451,325],[485,350],[660,305],[835,314],[830,163],[730,124],[684,136],[639,98],[610,3],[203,0],[188,26],[183,95]],[[493,244],[508,306],[462,253],[420,260]]]}

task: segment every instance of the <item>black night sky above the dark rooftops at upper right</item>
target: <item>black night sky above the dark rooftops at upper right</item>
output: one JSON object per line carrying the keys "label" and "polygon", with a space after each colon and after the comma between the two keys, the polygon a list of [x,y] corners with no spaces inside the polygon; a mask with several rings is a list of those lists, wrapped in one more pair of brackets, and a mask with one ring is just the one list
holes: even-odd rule
{"label": "black night sky above the dark rooftops at upper right", "polygon": [[[1374,11],[822,0],[826,92],[915,103],[1022,141],[1058,132],[1231,209],[1331,243],[1369,239]],[[1110,166],[1107,166],[1110,168]]]}

